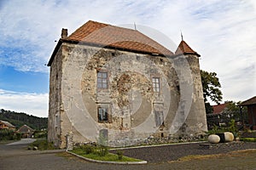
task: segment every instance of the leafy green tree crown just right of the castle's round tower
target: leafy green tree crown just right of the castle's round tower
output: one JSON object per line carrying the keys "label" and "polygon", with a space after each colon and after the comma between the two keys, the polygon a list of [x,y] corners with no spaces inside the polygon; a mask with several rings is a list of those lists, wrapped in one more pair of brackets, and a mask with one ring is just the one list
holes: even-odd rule
{"label": "leafy green tree crown just right of the castle's round tower", "polygon": [[201,71],[201,82],[205,103],[207,103],[207,98],[215,103],[222,100],[223,94],[219,89],[221,85],[215,72]]}

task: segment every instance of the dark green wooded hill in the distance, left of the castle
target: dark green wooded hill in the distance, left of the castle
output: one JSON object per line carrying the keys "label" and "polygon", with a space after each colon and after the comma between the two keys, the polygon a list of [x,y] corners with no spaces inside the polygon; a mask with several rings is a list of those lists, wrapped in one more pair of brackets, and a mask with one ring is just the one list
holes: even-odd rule
{"label": "dark green wooded hill in the distance, left of the castle", "polygon": [[0,120],[8,121],[15,125],[16,128],[26,124],[37,130],[47,128],[48,123],[48,119],[45,117],[32,116],[15,111],[4,111],[3,109],[0,110]]}

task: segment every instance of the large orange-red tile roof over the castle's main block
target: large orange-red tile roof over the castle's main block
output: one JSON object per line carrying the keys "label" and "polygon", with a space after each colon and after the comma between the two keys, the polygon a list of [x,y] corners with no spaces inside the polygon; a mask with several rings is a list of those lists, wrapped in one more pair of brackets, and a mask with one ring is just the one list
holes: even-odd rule
{"label": "large orange-red tile roof over the castle's main block", "polygon": [[155,42],[137,30],[111,26],[92,20],[79,27],[66,39],[150,54],[173,54],[160,43]]}

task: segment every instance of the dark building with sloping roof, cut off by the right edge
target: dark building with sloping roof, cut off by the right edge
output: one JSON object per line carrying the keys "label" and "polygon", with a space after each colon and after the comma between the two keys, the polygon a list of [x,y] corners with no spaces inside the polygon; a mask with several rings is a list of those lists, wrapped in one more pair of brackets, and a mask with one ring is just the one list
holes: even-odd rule
{"label": "dark building with sloping roof, cut off by the right edge", "polygon": [[239,106],[241,107],[247,106],[248,126],[252,130],[256,130],[256,96],[241,102]]}

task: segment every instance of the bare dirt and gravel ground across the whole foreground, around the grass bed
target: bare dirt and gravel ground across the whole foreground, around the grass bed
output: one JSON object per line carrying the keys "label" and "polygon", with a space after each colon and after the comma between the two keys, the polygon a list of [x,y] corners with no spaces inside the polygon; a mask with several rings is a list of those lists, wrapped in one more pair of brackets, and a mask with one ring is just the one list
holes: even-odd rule
{"label": "bare dirt and gravel ground across the whole foreground, around the grass bed", "polygon": [[[246,149],[253,150],[246,150]],[[66,170],[66,169],[92,169],[92,170],[137,170],[137,169],[255,169],[256,167],[255,143],[242,143],[224,145],[207,149],[200,144],[174,144],[150,148],[125,150],[125,155],[148,159],[145,165],[112,165],[84,161],[71,156],[66,152],[26,150],[26,144],[6,145],[0,144],[1,170]],[[229,152],[232,151],[233,152]],[[242,150],[242,151],[237,151]],[[155,153],[154,153],[155,152]],[[217,153],[219,152],[219,153]],[[229,153],[227,153],[229,152]],[[140,154],[139,154],[140,153]],[[186,154],[185,154],[186,153]],[[202,153],[202,154],[201,154]],[[216,155],[217,154],[217,155]],[[194,155],[194,156],[192,156]],[[195,156],[203,155],[203,156]],[[159,159],[154,159],[159,157]]]}

